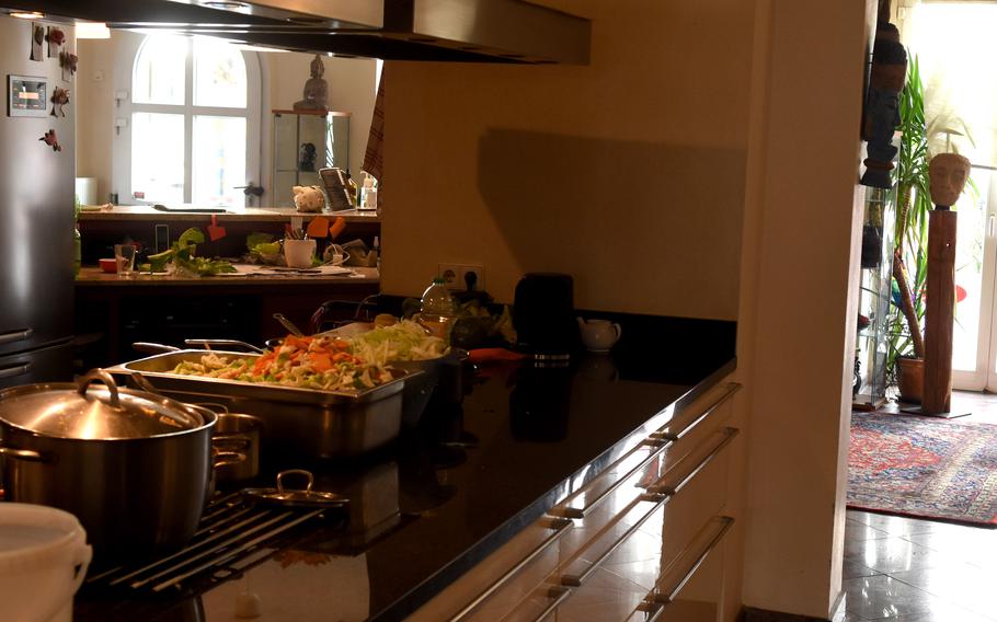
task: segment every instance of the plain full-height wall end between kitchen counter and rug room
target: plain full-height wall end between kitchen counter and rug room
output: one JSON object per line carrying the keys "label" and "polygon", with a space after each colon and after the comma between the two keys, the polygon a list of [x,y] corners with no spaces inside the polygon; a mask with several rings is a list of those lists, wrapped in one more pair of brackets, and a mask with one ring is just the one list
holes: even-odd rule
{"label": "plain full-height wall end between kitchen counter and rug room", "polygon": [[874,0],[758,2],[737,406],[746,604],[828,619],[841,587]]}

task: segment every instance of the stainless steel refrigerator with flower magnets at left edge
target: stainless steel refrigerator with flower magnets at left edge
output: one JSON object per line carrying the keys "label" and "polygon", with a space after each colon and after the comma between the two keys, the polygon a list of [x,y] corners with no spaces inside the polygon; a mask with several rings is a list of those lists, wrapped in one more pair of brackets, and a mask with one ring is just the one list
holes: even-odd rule
{"label": "stainless steel refrigerator with flower magnets at left edge", "polygon": [[[31,59],[34,24],[66,35],[54,56],[43,38]],[[60,50],[76,51],[70,25],[0,16],[0,388],[71,379],[75,106]],[[57,87],[70,93],[65,116],[49,114]],[[43,140],[49,130],[60,151]]]}

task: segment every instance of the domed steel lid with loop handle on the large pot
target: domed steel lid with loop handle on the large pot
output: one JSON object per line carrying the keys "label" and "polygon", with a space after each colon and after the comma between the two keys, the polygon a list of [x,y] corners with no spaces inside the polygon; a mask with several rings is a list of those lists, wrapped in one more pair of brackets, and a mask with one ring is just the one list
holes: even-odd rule
{"label": "domed steel lid with loop handle on the large pot", "polygon": [[[91,387],[100,380],[105,387]],[[103,369],[76,384],[28,384],[0,391],[0,419],[59,438],[127,439],[163,436],[205,424],[193,408],[152,393],[119,389]]]}

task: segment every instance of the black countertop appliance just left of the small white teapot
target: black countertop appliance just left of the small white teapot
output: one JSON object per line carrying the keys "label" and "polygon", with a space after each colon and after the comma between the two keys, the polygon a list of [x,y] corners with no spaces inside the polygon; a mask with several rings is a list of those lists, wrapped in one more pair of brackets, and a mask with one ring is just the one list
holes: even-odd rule
{"label": "black countertop appliance just left of the small white teapot", "polygon": [[513,303],[516,349],[536,361],[566,361],[578,347],[574,280],[559,273],[528,273]]}

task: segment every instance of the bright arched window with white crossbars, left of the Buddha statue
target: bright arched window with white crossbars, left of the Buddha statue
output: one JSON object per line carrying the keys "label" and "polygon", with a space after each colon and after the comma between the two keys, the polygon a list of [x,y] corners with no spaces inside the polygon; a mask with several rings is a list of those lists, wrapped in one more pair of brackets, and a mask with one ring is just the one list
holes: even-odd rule
{"label": "bright arched window with white crossbars, left of the Buddha statue", "polygon": [[137,204],[243,207],[237,186],[260,180],[256,55],[203,37],[139,41],[122,76],[130,89],[116,94],[115,186]]}

